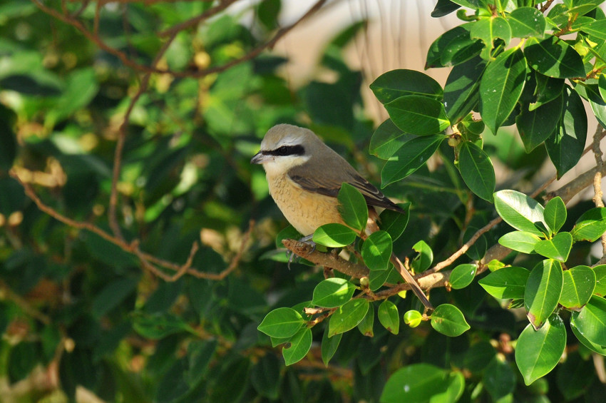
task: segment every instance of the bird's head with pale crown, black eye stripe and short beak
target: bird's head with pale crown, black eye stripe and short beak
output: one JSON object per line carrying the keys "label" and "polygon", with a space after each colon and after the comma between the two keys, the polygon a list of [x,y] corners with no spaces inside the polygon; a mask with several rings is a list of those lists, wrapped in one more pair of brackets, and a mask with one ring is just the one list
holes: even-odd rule
{"label": "bird's head with pale crown, black eye stripe and short beak", "polygon": [[280,175],[312,158],[314,150],[324,143],[310,130],[281,124],[267,131],[261,151],[250,160],[262,164],[269,175]]}

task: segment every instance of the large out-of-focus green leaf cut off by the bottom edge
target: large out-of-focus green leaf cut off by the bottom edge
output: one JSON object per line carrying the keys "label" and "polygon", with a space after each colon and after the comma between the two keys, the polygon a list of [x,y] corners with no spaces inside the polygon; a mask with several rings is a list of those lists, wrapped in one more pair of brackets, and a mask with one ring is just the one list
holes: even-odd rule
{"label": "large out-of-focus green leaf cut off by the bottom edge", "polygon": [[431,397],[446,387],[446,371],[430,364],[402,367],[387,379],[381,403],[430,402]]}

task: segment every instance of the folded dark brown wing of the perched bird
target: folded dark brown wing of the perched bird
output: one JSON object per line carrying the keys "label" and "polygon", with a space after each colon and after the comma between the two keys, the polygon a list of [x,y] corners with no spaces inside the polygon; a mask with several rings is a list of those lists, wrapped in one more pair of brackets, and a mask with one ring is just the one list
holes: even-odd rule
{"label": "folded dark brown wing of the perched bird", "polygon": [[404,213],[404,210],[386,198],[379,189],[372,185],[368,180],[362,178],[346,160],[341,158],[341,155],[334,153],[334,155],[330,155],[330,157],[340,159],[341,163],[322,164],[316,163],[315,161],[310,163],[312,161],[309,161],[303,165],[291,168],[288,171],[288,176],[294,183],[297,183],[297,185],[305,190],[333,198],[336,198],[339,194],[341,183],[349,183],[360,191],[368,205]]}

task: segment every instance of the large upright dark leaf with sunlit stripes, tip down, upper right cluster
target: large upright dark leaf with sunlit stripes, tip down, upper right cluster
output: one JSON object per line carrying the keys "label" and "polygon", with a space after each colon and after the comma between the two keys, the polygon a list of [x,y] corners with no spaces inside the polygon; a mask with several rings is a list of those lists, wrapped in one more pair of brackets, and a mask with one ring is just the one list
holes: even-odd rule
{"label": "large upright dark leaf with sunlit stripes, tip down, upper right cluster", "polygon": [[461,121],[478,104],[480,78],[486,61],[475,57],[454,66],[444,86],[444,109],[451,123]]}

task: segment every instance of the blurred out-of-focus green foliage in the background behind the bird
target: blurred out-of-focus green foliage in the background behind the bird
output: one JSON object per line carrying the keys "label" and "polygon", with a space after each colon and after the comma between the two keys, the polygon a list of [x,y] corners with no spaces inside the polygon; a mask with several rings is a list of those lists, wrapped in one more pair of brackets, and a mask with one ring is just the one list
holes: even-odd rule
{"label": "blurred out-of-focus green foliage in the background behind the bird", "polygon": [[[525,320],[477,283],[431,292],[436,305],[463,310],[473,327],[465,335],[448,338],[424,324],[394,336],[376,325],[374,337],[343,335],[324,367],[316,327],[312,351],[284,367],[257,326],[271,309],[310,300],[324,275],[283,263],[275,238],[286,223],[249,160],[268,128],[294,123],[379,183],[378,159],[366,152],[376,123],[364,112],[363,75],[343,56],[365,24],[328,41],[317,58],[322,78],[297,88],[284,77],[287,58],[268,50],[247,57],[279,32],[279,0],[160,34],[233,2],[0,4],[0,401],[377,402],[389,374],[414,362],[461,369],[462,401],[601,401],[606,389],[579,345],[524,387],[508,337]],[[252,22],[243,22],[250,11]],[[516,172],[505,186],[532,188],[546,153],[525,154],[512,139],[490,136],[485,149]],[[384,190],[411,202],[396,250],[411,254],[423,239],[436,261],[493,217],[476,200],[466,218],[471,193],[451,149],[443,144],[439,153],[448,158]],[[470,257],[504,232],[485,235]],[[158,275],[173,276],[179,265],[185,272],[172,281]],[[419,307],[412,298],[397,304],[401,312]]]}

